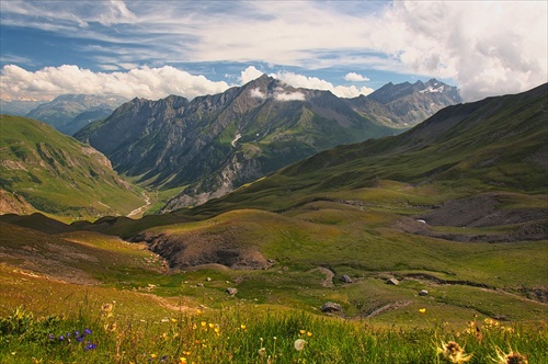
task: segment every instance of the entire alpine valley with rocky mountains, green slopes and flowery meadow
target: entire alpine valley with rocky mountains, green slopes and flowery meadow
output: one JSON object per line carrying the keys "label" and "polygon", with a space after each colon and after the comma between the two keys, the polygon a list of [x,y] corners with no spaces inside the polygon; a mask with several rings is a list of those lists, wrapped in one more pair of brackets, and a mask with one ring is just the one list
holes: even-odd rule
{"label": "entire alpine valley with rocky mountains, green slopes and flowery meadow", "polygon": [[[85,190],[112,216],[0,216],[0,361],[546,363],[548,83],[455,92],[263,76],[134,99],[80,141],[2,116],[12,201]],[[176,196],[128,218],[136,185]]]}

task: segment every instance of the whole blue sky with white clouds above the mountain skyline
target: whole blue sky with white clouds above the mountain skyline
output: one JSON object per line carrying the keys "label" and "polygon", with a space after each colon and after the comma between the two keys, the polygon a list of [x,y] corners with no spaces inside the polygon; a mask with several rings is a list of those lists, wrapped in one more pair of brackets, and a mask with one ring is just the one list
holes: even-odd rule
{"label": "whole blue sky with white clouds above the mountain skyline", "polygon": [[465,101],[548,81],[548,1],[0,1],[0,98],[157,100],[266,73],[368,94],[436,78]]}

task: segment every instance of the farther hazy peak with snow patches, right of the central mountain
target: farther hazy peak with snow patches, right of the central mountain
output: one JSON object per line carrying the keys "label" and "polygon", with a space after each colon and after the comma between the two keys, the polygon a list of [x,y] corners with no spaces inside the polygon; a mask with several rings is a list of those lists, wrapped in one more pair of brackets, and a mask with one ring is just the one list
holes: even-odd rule
{"label": "farther hazy peak with snow patches, right of the central mountain", "polygon": [[458,89],[432,79],[427,82],[387,83],[367,96],[350,99],[352,109],[380,125],[412,127],[445,106],[460,103]]}

